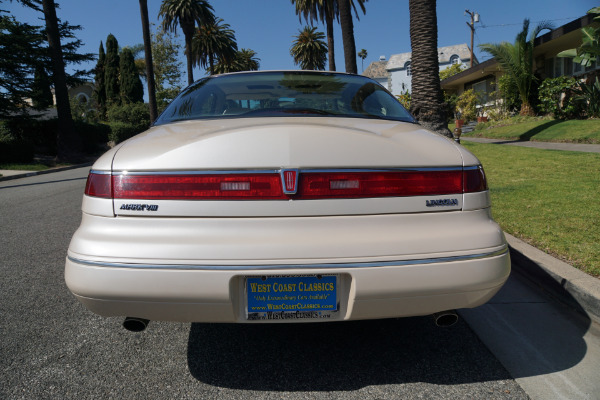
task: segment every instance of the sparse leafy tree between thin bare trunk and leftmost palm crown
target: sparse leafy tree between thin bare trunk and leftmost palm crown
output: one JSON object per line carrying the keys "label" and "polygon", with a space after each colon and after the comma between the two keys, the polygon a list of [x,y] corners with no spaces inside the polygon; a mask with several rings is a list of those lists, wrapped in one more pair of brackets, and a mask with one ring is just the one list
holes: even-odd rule
{"label": "sparse leafy tree between thin bare trunk and leftmost palm crown", "polygon": [[[173,35],[173,36],[172,36]],[[182,63],[177,58],[181,45],[176,35],[158,28],[152,34],[152,57],[156,83],[156,103],[162,111],[181,91]]]}

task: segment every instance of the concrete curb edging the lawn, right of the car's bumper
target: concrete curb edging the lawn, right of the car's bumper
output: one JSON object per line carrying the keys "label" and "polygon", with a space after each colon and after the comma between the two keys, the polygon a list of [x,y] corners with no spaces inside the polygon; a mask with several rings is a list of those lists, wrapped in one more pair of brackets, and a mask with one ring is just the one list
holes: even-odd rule
{"label": "concrete curb edging the lawn, right of the car's bumper", "polygon": [[505,233],[516,272],[552,297],[600,324],[600,279]]}

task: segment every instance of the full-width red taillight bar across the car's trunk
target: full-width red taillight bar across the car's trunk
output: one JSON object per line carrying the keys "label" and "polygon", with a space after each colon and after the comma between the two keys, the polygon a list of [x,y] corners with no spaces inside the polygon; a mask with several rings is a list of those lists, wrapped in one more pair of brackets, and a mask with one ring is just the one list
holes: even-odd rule
{"label": "full-width red taillight bar across the car's trunk", "polygon": [[487,190],[483,168],[403,171],[300,171],[296,194],[268,173],[117,174],[90,172],[88,196],[149,200],[289,200],[436,196]]}

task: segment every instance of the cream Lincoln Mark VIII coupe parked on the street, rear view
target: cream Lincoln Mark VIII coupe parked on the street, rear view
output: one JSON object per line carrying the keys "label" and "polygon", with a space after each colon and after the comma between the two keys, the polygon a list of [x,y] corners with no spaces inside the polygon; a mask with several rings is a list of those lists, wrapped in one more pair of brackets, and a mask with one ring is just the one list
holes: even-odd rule
{"label": "cream Lincoln Mark VIII coupe parked on the street, rear view", "polygon": [[479,160],[362,76],[201,79],[94,164],[82,208],[67,285],[130,329],[455,316],[510,273]]}

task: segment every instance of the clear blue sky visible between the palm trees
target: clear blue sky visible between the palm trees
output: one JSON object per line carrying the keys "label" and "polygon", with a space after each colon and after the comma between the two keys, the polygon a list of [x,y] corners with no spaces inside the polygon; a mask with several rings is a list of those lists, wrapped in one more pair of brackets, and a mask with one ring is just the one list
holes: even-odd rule
{"label": "clear blue sky visible between the palm trees", "polygon": [[[1,0],[0,0],[1,1]],[[59,18],[71,24],[82,25],[78,36],[84,42],[83,51],[97,53],[100,41],[112,33],[120,46],[142,43],[139,2],[135,0],[61,0],[58,1]],[[289,49],[293,36],[305,22],[299,22],[294,6],[289,0],[210,0],[215,14],[223,18],[236,33],[239,48],[250,48],[258,53],[261,69],[297,69]],[[475,54],[480,61],[489,58],[481,53],[477,44],[512,42],[521,30],[523,19],[534,24],[550,20],[555,27],[584,15],[597,6],[592,0],[438,0],[438,46],[460,43],[470,44],[469,21],[465,9],[477,11],[480,23],[476,24]],[[159,0],[148,0],[150,21],[158,24]],[[368,56],[364,67],[384,55],[410,51],[408,0],[369,0],[366,15],[355,19],[354,32],[356,49],[366,49]],[[0,9],[10,11],[18,20],[42,24],[38,13],[28,10],[16,1],[2,1]],[[318,25],[323,32],[325,28]],[[183,35],[178,29],[179,40]],[[336,27],[336,64],[344,69],[341,30]],[[183,60],[183,54],[180,55]],[[361,60],[357,59],[359,72]],[[89,65],[92,68],[94,63]],[[194,71],[194,78],[205,72]],[[184,77],[185,80],[185,77]]]}

